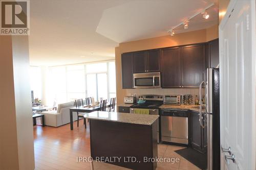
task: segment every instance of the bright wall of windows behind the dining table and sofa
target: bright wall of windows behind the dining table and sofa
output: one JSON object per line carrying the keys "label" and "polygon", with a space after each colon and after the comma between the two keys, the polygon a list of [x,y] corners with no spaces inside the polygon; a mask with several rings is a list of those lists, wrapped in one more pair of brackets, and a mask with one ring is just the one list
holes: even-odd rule
{"label": "bright wall of windows behind the dining table and sofa", "polygon": [[114,61],[51,67],[49,76],[48,97],[57,103],[86,97],[110,101],[116,97]]}

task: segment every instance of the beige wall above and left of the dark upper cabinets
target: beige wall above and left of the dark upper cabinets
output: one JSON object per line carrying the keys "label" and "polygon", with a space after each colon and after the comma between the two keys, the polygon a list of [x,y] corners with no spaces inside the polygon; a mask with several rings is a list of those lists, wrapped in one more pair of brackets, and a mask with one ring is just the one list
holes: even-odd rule
{"label": "beige wall above and left of the dark upper cabinets", "polygon": [[[121,54],[122,53],[148,50],[148,49],[154,49],[154,48],[162,48],[162,47],[168,47],[168,46],[207,42],[212,39],[218,38],[218,35],[219,35],[218,26],[213,26],[209,29],[177,34],[175,36],[162,36],[162,37],[120,43],[119,46],[115,48],[117,104],[123,103],[123,97],[126,94],[133,93],[131,92],[131,90],[122,89],[122,74],[121,74]],[[156,91],[152,91],[152,92],[156,92]]]}

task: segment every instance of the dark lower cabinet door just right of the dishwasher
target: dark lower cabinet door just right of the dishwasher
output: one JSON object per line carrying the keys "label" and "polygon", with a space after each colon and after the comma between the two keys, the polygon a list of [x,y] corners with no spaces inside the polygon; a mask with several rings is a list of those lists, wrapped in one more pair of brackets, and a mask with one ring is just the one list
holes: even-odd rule
{"label": "dark lower cabinet door just right of the dishwasher", "polygon": [[201,126],[199,123],[199,113],[190,111],[191,114],[191,146],[192,148],[202,152],[202,135]]}

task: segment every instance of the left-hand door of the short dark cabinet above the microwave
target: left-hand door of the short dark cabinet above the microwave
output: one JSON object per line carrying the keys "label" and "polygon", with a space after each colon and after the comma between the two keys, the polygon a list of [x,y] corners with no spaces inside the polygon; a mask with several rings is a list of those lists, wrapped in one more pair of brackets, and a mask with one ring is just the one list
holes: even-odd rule
{"label": "left-hand door of the short dark cabinet above the microwave", "polygon": [[133,72],[146,72],[146,52],[135,52],[133,55]]}

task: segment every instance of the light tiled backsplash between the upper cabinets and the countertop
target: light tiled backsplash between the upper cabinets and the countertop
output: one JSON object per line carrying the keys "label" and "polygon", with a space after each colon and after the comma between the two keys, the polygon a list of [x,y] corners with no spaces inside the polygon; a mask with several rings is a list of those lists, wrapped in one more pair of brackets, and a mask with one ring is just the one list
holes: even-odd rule
{"label": "light tiled backsplash between the upper cabinets and the countertop", "polygon": [[158,94],[158,95],[165,95],[165,94],[191,94],[193,95],[193,103],[195,103],[196,95],[199,98],[199,88],[169,88],[169,89],[126,89],[126,95],[134,95],[137,96],[140,94]]}

